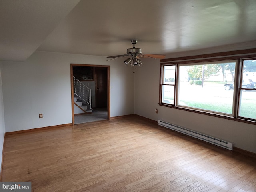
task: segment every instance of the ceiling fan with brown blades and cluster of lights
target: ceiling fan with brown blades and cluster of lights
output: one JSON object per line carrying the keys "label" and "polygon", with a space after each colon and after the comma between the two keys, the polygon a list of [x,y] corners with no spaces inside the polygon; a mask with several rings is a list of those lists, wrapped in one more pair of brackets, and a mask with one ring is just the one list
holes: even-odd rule
{"label": "ceiling fan with brown blades and cluster of lights", "polygon": [[[120,57],[126,57],[126,56],[131,56],[131,58],[128,58],[124,61],[126,65],[131,63],[131,66],[135,65],[142,65],[140,61],[140,57],[148,57],[148,58],[154,58],[154,59],[164,59],[165,55],[155,55],[155,54],[142,54],[142,51],[140,48],[135,48],[135,44],[138,42],[137,40],[131,40],[133,44],[133,48],[127,49],[127,54],[124,55],[114,55],[114,56],[108,56],[107,58],[111,58],[110,60],[120,58]],[[110,61],[108,60],[108,61]]]}

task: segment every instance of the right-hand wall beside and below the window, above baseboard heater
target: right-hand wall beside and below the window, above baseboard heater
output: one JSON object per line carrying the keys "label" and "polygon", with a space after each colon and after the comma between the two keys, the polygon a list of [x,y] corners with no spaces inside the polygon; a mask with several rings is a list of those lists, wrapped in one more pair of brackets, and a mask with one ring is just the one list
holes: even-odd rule
{"label": "right-hand wall beside and below the window, above baseboard heater", "polygon": [[135,72],[135,114],[228,140],[235,147],[256,153],[255,125],[159,106],[160,62],[144,58],[142,63]]}

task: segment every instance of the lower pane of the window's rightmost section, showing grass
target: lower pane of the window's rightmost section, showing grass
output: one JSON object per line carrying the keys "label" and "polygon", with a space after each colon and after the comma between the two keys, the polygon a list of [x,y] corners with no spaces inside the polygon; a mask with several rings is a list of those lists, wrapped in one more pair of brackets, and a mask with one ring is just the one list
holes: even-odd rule
{"label": "lower pane of the window's rightmost section, showing grass", "polygon": [[256,119],[256,91],[240,92],[240,106],[238,116]]}

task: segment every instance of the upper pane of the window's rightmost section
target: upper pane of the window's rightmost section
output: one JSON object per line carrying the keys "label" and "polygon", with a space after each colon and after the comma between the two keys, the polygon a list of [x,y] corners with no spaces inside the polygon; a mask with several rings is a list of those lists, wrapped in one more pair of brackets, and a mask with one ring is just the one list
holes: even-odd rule
{"label": "upper pane of the window's rightmost section", "polygon": [[256,87],[256,60],[246,60],[243,64],[242,88]]}

